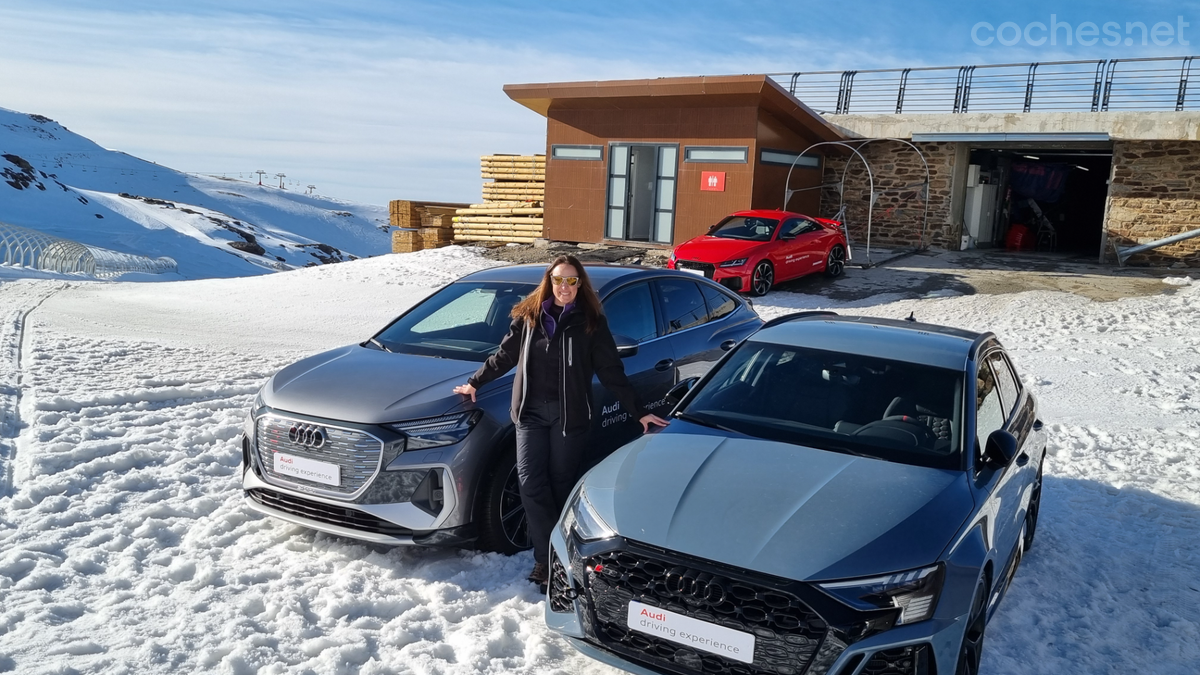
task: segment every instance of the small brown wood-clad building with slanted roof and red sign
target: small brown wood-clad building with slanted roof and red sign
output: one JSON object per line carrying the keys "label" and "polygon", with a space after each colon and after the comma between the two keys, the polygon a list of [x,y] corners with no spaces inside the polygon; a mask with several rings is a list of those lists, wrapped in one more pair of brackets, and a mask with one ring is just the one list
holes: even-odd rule
{"label": "small brown wood-clad building with slanted roof and red sign", "polygon": [[782,207],[788,171],[787,208],[817,215],[823,155],[836,147],[797,156],[845,138],[766,76],[504,92],[546,118],[544,237],[560,241],[678,244],[732,211]]}

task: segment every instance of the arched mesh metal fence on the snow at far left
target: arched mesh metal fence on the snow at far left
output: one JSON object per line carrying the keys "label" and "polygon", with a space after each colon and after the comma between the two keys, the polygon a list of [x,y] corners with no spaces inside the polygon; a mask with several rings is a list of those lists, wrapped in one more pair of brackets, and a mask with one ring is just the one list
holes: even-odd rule
{"label": "arched mesh metal fence on the snow at far left", "polygon": [[168,257],[121,253],[6,222],[0,222],[0,263],[101,279],[130,271],[162,274],[178,268],[175,261]]}

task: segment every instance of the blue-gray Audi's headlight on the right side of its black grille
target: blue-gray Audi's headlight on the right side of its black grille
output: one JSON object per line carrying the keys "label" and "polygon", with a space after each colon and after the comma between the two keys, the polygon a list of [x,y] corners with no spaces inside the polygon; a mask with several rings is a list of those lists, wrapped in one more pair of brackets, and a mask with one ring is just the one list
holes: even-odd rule
{"label": "blue-gray Audi's headlight on the right side of its black grille", "polygon": [[858,609],[896,608],[900,617],[895,625],[904,626],[934,616],[944,578],[944,568],[938,563],[884,577],[817,585]]}

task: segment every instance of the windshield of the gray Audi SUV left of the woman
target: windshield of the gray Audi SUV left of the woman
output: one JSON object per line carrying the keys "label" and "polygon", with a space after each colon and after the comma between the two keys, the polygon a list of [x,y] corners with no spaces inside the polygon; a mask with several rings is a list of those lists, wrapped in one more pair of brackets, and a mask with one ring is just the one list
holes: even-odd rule
{"label": "windshield of the gray Audi SUV left of the woman", "polygon": [[390,352],[486,360],[509,331],[509,312],[533,283],[451,283],[384,328],[374,341]]}

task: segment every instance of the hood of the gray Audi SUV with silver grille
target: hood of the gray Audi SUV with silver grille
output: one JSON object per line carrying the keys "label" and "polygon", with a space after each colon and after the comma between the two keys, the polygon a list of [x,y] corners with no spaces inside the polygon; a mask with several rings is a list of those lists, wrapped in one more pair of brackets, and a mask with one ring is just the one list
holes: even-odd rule
{"label": "hood of the gray Audi SUV with silver grille", "polygon": [[395,354],[352,345],[296,362],[263,388],[278,410],[360,424],[443,414],[460,405],[456,384],[478,363]]}

